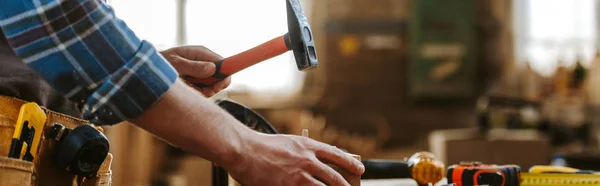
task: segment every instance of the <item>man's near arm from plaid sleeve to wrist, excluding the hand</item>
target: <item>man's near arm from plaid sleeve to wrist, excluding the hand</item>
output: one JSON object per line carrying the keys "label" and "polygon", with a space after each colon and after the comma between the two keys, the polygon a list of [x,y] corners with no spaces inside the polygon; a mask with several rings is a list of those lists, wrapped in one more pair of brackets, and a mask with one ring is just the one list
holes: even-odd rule
{"label": "man's near arm from plaid sleeve to wrist, excluding the hand", "polygon": [[10,7],[0,8],[0,28],[15,54],[59,93],[82,103],[84,119],[110,125],[138,118],[132,121],[215,161],[236,152],[248,130],[231,125],[235,119],[200,93],[181,82],[173,85],[175,69],[108,5],[100,0],[0,2]]}

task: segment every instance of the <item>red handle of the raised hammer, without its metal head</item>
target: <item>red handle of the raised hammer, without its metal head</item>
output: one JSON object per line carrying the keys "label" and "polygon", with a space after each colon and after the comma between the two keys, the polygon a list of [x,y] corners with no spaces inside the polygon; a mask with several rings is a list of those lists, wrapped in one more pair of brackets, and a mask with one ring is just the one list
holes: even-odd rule
{"label": "red handle of the raised hammer, without its metal head", "polygon": [[196,86],[211,86],[245,68],[258,64],[267,59],[279,56],[290,50],[289,34],[279,36],[250,50],[215,62],[217,70],[212,77],[205,79],[189,79]]}

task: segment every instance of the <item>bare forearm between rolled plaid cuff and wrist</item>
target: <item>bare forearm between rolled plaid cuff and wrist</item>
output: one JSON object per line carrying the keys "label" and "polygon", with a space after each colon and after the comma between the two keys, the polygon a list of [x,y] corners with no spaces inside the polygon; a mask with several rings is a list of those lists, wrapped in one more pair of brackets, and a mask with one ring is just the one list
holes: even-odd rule
{"label": "bare forearm between rolled plaid cuff and wrist", "polygon": [[178,80],[132,123],[185,151],[221,165],[229,164],[252,135],[223,109]]}

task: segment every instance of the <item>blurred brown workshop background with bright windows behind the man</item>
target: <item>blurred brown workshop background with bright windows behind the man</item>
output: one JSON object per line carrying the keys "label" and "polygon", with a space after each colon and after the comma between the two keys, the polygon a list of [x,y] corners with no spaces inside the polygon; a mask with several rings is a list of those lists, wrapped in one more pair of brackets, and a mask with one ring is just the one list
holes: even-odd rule
{"label": "blurred brown workshop background with bright windows behind the man", "polygon": [[[283,0],[109,0],[159,49],[231,56],[287,32]],[[287,53],[233,76],[213,99],[281,133],[362,159],[434,153],[600,170],[600,1],[301,0],[319,67]],[[211,163],[128,124],[107,128],[113,185],[211,185]]]}

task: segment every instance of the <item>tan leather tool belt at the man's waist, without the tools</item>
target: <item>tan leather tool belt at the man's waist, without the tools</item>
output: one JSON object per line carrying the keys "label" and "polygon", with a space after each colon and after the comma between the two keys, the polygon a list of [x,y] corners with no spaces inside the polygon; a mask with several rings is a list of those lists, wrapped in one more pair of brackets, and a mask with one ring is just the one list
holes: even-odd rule
{"label": "tan leather tool belt at the man's waist, without the tools", "polygon": [[[11,139],[15,131],[19,111],[21,105],[25,103],[27,102],[11,97],[0,96],[0,185],[111,185],[111,154],[108,154],[104,163],[100,166],[97,176],[84,181],[76,175],[68,173],[54,165],[52,161],[52,152],[55,149],[57,142],[45,138],[43,134],[38,150],[38,157],[35,158],[33,162],[8,158]],[[46,108],[42,109],[47,115],[46,129],[51,127],[54,123],[60,123],[67,128],[76,128],[81,125],[90,124],[85,120],[53,112]]]}

